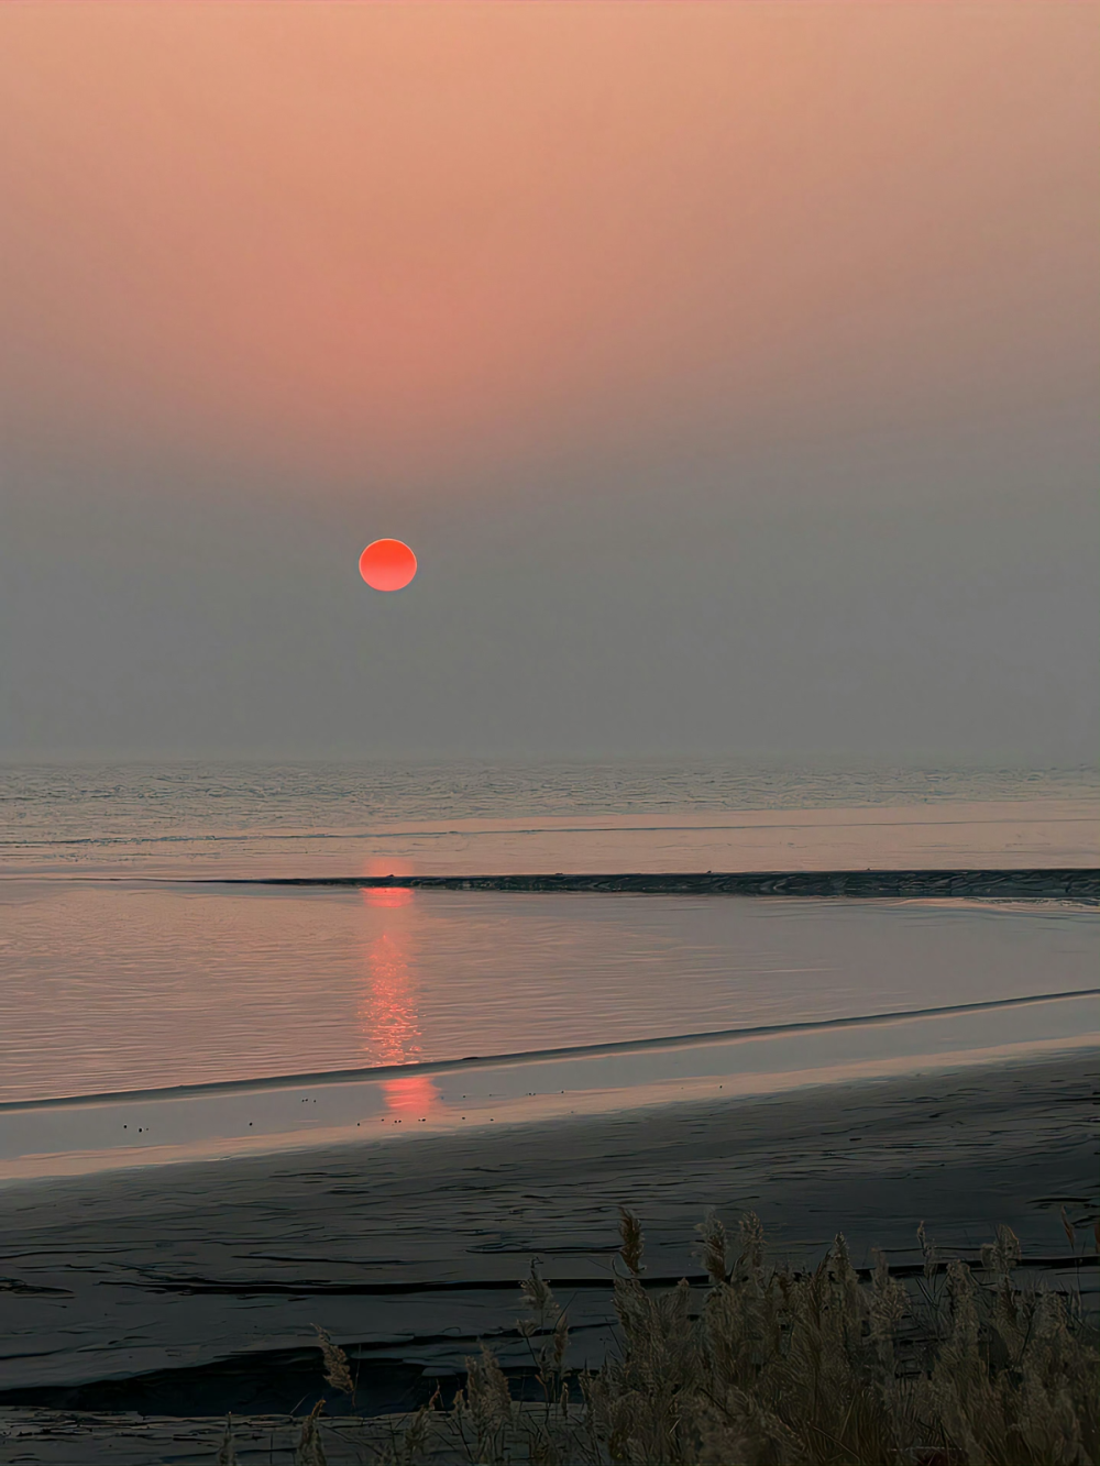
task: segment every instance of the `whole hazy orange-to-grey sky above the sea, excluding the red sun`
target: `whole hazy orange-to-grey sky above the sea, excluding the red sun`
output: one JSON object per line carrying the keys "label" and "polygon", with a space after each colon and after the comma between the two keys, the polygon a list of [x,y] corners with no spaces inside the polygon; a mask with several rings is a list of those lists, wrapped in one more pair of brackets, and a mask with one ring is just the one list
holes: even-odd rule
{"label": "whole hazy orange-to-grey sky above the sea, excluding the red sun", "polygon": [[3,751],[1091,758],[1099,40],[4,6]]}

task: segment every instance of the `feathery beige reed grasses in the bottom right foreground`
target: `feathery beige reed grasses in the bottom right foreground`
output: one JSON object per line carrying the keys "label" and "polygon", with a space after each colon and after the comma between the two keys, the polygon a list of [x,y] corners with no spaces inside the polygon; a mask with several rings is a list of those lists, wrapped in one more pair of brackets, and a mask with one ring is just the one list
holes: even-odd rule
{"label": "feathery beige reed grasses in the bottom right foreground", "polygon": [[[977,1268],[943,1261],[918,1233],[911,1289],[884,1256],[861,1283],[842,1236],[813,1272],[770,1265],[748,1214],[735,1242],[697,1229],[705,1290],[644,1286],[641,1226],[623,1211],[613,1280],[619,1349],[593,1372],[565,1369],[569,1322],[532,1268],[521,1284],[540,1404],[512,1399],[493,1353],[466,1387],[373,1434],[392,1466],[1100,1466],[1099,1355],[1079,1309],[1013,1283],[1008,1227]],[[343,1350],[320,1331],[326,1380],[353,1396]],[[318,1406],[298,1466],[324,1466],[339,1425]],[[374,1422],[380,1425],[381,1422]],[[220,1466],[238,1460],[232,1429]]]}

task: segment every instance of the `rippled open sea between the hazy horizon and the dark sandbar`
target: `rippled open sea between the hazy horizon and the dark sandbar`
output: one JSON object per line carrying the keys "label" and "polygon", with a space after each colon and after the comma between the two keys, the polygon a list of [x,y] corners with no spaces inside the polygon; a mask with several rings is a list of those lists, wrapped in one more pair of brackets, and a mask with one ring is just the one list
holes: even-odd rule
{"label": "rippled open sea between the hazy horizon and the dark sandbar", "polygon": [[711,859],[758,869],[761,859],[950,863],[968,853],[1074,863],[1068,855],[1097,846],[1097,808],[1093,770],[25,765],[0,770],[0,869],[469,874],[557,868],[546,861],[707,869]]}

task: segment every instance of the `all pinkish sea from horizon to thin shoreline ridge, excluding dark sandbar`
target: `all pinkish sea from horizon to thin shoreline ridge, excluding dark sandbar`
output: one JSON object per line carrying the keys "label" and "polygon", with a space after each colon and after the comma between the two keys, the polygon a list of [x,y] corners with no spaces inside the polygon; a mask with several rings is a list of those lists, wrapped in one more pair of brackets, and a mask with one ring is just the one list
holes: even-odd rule
{"label": "all pinkish sea from horizon to thin shoreline ridge, excluding dark sandbar", "polygon": [[0,1100],[859,1019],[1096,982],[1057,903],[264,875],[1081,865],[1082,770],[106,765],[0,780]]}

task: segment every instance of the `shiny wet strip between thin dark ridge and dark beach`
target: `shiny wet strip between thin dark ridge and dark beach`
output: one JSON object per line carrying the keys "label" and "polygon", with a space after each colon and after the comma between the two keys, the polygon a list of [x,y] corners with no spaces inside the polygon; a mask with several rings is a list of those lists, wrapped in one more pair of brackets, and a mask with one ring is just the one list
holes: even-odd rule
{"label": "shiny wet strip between thin dark ridge and dark beach", "polygon": [[466,1058],[397,1070],[180,1086],[16,1102],[0,1127],[0,1192],[26,1180],[232,1165],[364,1142],[465,1143],[534,1133],[571,1116],[683,1110],[854,1082],[997,1069],[1100,1048],[1097,991],[991,1000],[597,1048]]}

